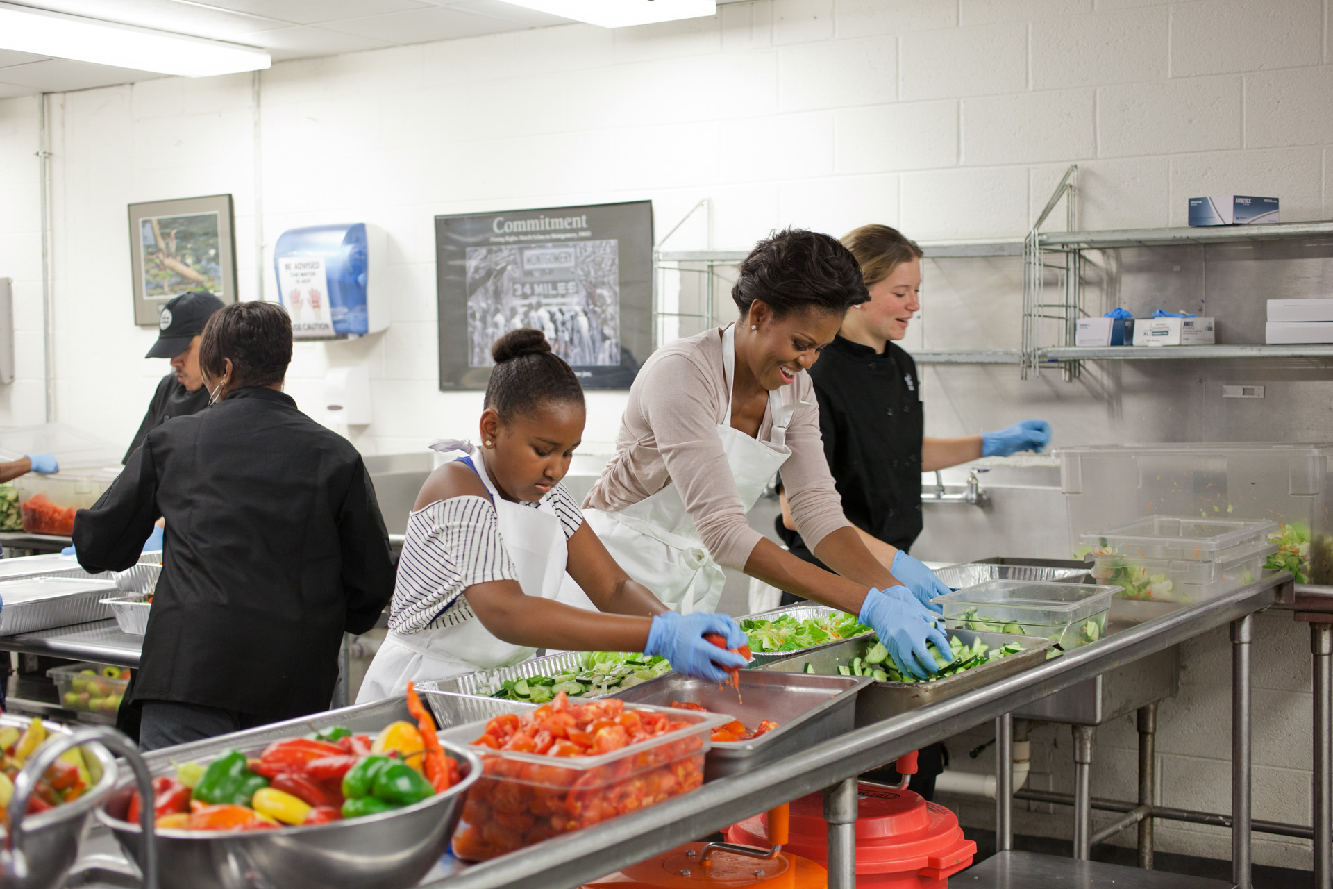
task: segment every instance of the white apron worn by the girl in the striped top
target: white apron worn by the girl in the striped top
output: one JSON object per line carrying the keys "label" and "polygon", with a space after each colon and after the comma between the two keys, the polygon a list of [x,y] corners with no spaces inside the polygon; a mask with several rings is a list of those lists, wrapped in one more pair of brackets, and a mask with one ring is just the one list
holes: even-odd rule
{"label": "white apron worn by the girl in the striped top", "polygon": [[[480,448],[469,441],[444,439],[436,450],[467,452],[496,508],[500,538],[528,596],[556,598],[565,576],[565,532],[560,518],[544,509],[509,502],[487,474]],[[440,680],[460,673],[491,670],[525,661],[537,649],[511,645],[493,636],[480,618],[420,633],[395,633],[384,640],[356,696],[357,704],[403,694],[407,684]]]}

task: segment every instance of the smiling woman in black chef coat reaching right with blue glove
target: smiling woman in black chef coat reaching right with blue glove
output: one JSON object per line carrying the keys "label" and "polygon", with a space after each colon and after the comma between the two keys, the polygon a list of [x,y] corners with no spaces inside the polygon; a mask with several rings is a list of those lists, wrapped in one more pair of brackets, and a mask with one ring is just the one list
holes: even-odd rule
{"label": "smiling woman in black chef coat reaching right with blue glove", "polygon": [[[842,237],[861,267],[870,299],[848,309],[837,337],[810,367],[820,433],[842,512],[885,565],[921,533],[921,473],[980,457],[1041,450],[1050,427],[1022,420],[1000,432],[937,439],[925,435],[916,363],[894,340],[921,309],[921,248],[888,225]],[[790,520],[786,497],[777,533],[793,554],[818,564]],[[940,588],[948,593],[946,586]],[[782,604],[794,602],[788,593]],[[921,750],[912,789],[926,798],[942,765],[940,745]]]}

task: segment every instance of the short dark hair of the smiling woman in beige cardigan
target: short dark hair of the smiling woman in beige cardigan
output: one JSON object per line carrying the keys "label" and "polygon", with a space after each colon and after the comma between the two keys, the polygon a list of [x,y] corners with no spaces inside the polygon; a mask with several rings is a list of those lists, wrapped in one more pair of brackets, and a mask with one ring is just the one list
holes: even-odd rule
{"label": "short dark hair of the smiling woman in beige cardigan", "polygon": [[786,228],[756,244],[745,257],[732,299],[741,317],[756,300],[782,317],[808,309],[841,315],[870,295],[856,257],[836,237]]}

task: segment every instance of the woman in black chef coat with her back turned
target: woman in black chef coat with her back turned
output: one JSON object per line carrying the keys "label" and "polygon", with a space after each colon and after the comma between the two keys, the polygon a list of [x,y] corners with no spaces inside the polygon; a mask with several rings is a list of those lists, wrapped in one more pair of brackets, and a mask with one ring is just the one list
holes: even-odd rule
{"label": "woman in black chef coat with her back turned", "polygon": [[281,391],[287,313],[237,303],[203,337],[212,407],[148,432],[75,517],[91,572],[129,568],[167,520],[143,661],[119,720],[145,750],[328,709],[343,633],[371,629],[393,593],[361,456]]}

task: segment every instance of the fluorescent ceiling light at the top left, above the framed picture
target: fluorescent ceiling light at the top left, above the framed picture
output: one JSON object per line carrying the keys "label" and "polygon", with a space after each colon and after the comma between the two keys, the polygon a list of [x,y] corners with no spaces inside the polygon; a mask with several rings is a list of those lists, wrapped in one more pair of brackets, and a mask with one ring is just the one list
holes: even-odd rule
{"label": "fluorescent ceiling light at the top left, above the framed picture", "polygon": [[260,49],[0,3],[0,49],[207,77],[273,64]]}

